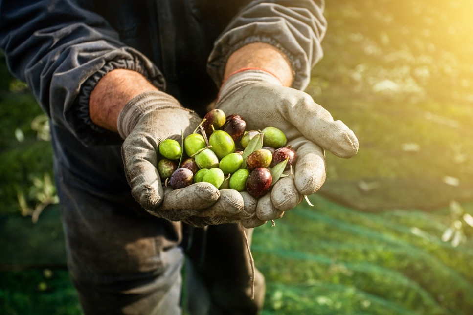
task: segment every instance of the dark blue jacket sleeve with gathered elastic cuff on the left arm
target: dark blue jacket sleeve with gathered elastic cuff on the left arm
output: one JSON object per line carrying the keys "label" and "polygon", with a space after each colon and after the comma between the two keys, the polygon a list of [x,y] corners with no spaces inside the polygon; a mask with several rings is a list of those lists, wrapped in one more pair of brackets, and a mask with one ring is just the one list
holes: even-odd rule
{"label": "dark blue jacket sleeve with gathered elastic cuff on the left arm", "polygon": [[121,43],[91,2],[0,1],[0,47],[10,71],[28,84],[53,124],[86,145],[119,141],[89,116],[90,92],[107,72],[131,69],[164,85],[155,65]]}

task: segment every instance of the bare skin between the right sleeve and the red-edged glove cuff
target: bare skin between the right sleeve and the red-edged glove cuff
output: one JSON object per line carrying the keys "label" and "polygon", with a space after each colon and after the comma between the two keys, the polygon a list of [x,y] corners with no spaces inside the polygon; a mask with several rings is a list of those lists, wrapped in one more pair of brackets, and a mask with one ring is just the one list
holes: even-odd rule
{"label": "bare skin between the right sleeve and the red-edged glove cuff", "polygon": [[293,70],[287,57],[276,47],[254,42],[233,52],[225,65],[224,81],[235,71],[244,68],[259,68],[275,75],[282,84],[291,86]]}

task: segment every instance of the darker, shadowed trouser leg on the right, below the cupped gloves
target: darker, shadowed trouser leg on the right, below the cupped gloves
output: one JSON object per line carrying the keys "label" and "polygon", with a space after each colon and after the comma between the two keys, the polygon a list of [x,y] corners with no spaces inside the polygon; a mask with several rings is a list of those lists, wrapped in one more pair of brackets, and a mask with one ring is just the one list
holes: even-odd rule
{"label": "darker, shadowed trouser leg on the right, below the cupped gloves", "polygon": [[[247,230],[251,238],[252,230]],[[263,308],[265,280],[255,272],[251,297],[251,265],[237,223],[195,229],[186,251],[188,308],[192,315],[255,315]]]}

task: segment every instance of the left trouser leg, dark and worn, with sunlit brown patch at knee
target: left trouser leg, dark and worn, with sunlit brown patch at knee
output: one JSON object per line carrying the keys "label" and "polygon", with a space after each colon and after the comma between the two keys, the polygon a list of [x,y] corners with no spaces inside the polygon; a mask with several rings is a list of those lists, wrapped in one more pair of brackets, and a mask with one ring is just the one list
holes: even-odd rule
{"label": "left trouser leg, dark and worn, with sunlit brown patch at knee", "polygon": [[180,314],[181,224],[135,202],[120,145],[84,147],[51,129],[68,267],[85,314]]}

